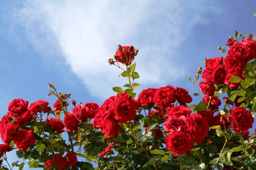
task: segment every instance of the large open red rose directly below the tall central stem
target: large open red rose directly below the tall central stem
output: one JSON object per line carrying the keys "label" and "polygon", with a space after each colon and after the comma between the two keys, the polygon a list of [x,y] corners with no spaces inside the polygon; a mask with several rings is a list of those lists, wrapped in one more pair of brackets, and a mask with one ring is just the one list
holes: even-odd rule
{"label": "large open red rose directly below the tall central stem", "polygon": [[120,123],[126,123],[127,121],[135,119],[135,109],[138,108],[138,103],[135,102],[135,99],[128,96],[127,92],[117,94],[117,98],[118,99],[113,104],[115,119],[119,120]]}

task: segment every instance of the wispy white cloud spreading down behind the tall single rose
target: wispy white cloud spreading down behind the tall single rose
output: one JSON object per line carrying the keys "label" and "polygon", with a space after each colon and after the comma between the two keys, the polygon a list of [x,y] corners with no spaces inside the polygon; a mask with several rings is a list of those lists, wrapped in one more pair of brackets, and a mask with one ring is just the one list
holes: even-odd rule
{"label": "wispy white cloud spreading down behind the tall single rose", "polygon": [[185,74],[184,58],[176,53],[212,10],[207,1],[26,0],[14,21],[43,56],[60,52],[89,92],[105,99],[114,94],[111,87],[127,83],[107,62],[118,44],[140,50],[135,61],[141,84],[166,86]]}

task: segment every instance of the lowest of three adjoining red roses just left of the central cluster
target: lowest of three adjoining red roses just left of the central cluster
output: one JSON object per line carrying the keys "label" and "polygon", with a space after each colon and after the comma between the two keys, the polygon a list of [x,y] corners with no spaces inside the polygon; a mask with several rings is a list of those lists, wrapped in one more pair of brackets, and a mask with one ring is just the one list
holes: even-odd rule
{"label": "lowest of three adjoining red roses just left of the central cluster", "polygon": [[66,130],[69,133],[73,133],[73,131],[78,132],[78,123],[80,123],[80,121],[78,120],[78,118],[76,118],[74,115],[72,115],[70,112],[68,114],[65,115],[64,117],[64,124],[66,126]]}

